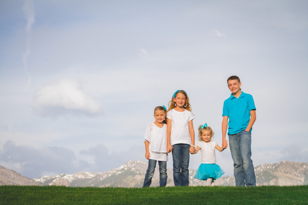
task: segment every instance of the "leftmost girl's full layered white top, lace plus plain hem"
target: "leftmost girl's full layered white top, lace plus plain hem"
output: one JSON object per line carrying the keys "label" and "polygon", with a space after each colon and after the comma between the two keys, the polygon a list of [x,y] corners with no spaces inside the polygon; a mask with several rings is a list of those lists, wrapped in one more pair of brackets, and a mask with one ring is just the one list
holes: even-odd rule
{"label": "leftmost girl's full layered white top, lace plus plain hem", "polygon": [[167,153],[167,125],[162,128],[150,122],[145,131],[144,141],[149,141],[151,160],[168,161]]}

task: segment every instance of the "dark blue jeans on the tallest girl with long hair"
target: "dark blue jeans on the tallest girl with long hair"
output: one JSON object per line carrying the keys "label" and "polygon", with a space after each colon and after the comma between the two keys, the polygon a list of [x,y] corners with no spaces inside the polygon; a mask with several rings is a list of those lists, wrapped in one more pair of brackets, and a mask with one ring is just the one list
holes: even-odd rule
{"label": "dark blue jeans on the tallest girl with long hair", "polygon": [[173,181],[175,186],[188,186],[189,144],[172,145]]}

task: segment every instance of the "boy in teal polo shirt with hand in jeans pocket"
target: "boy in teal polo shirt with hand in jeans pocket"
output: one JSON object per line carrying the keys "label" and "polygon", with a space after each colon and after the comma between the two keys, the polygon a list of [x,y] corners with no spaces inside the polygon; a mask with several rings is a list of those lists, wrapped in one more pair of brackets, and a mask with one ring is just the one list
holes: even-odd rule
{"label": "boy in teal polo shirt with hand in jeans pocket", "polygon": [[[253,97],[241,91],[241,81],[237,76],[227,80],[232,92],[224,102],[222,111],[222,147],[227,148],[226,131],[228,129],[229,145],[234,162],[236,186],[256,186],[256,175],[251,160],[251,130],[256,121],[256,107]],[[229,118],[229,124],[228,124]]]}

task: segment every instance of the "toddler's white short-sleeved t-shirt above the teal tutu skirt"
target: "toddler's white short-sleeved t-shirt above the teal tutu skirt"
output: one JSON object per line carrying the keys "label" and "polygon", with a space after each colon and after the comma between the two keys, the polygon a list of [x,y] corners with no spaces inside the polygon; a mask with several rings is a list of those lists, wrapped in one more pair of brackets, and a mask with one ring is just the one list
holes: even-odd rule
{"label": "toddler's white short-sleeved t-shirt above the teal tutu skirt", "polygon": [[210,142],[201,141],[197,144],[201,151],[201,164],[216,164],[215,146],[217,142],[211,140]]}

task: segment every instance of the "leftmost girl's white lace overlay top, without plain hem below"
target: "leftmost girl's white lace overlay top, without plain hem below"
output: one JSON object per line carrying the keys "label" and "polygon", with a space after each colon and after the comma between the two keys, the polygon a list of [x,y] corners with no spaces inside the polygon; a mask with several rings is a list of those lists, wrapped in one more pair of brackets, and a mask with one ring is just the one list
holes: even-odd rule
{"label": "leftmost girl's white lace overlay top, without plain hem below", "polygon": [[149,141],[149,150],[152,152],[167,153],[167,125],[159,128],[153,122],[148,124],[144,141]]}

